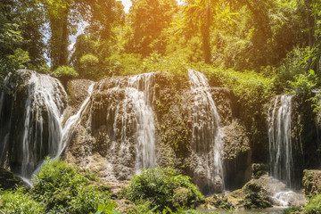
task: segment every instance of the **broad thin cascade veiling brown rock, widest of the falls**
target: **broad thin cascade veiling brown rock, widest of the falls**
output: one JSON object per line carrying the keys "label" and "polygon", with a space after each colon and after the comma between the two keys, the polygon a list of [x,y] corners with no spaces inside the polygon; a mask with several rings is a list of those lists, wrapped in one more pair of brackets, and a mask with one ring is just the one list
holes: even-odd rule
{"label": "broad thin cascade veiling brown rock, widest of the falls", "polygon": [[[88,153],[92,151],[88,151],[86,157],[99,159],[103,165],[99,170],[109,180],[128,179],[141,169],[156,166],[154,78],[154,73],[146,73],[104,79],[95,86],[88,116],[88,134],[95,142],[89,147],[105,152],[100,152],[98,158],[91,157]],[[90,161],[87,167],[96,169]]]}

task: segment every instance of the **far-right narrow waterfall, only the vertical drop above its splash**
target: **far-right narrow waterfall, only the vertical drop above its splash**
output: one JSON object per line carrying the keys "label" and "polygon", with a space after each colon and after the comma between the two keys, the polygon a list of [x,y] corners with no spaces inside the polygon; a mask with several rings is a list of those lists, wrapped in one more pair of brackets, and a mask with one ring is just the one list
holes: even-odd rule
{"label": "far-right narrow waterfall, only the vertical drop above its splash", "polygon": [[270,174],[292,186],[292,96],[279,95],[268,111],[268,141]]}

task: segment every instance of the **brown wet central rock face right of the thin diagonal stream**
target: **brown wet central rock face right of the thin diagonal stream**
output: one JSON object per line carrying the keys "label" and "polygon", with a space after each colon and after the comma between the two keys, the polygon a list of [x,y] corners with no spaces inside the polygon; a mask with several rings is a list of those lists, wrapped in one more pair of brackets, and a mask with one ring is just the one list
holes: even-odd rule
{"label": "brown wet central rock face right of the thin diagonal stream", "polygon": [[[190,89],[189,79],[173,79],[166,74],[155,73],[149,77],[149,82],[142,78],[134,86],[130,85],[133,84],[133,78],[108,78],[95,83],[90,104],[71,138],[66,153],[67,161],[100,172],[106,180],[133,177],[139,162],[148,163],[152,159],[147,157],[144,161],[143,157],[138,157],[144,144],[141,149],[137,149],[140,137],[137,133],[140,133],[139,128],[144,123],[137,117],[139,111],[136,99],[143,99],[142,108],[145,104],[152,110],[152,123],[147,121],[147,124],[150,124],[148,128],[154,126],[154,138],[152,134],[147,136],[150,137],[149,142],[154,141],[156,164],[181,170],[185,175],[193,177],[193,182],[203,191],[213,186],[222,188],[219,177],[214,177],[213,183],[209,184],[207,169],[199,165],[193,156],[193,151],[199,145],[192,141],[195,94]],[[72,84],[77,85],[76,82]],[[137,91],[142,96],[133,99],[130,95],[136,95]],[[235,105],[234,96],[227,89],[215,87],[210,88],[210,95],[217,103],[218,114],[223,120],[225,149],[222,149],[222,160],[223,157],[226,160],[226,177],[235,177],[237,174],[235,179],[241,179],[238,186],[243,185],[251,176],[248,173],[251,152],[245,128],[235,119],[235,108],[231,108]],[[79,95],[70,97],[74,97],[71,100],[77,100]],[[241,167],[239,163],[242,163]],[[241,178],[244,171],[249,176]],[[227,186],[229,182],[234,183],[235,179],[227,180]]]}

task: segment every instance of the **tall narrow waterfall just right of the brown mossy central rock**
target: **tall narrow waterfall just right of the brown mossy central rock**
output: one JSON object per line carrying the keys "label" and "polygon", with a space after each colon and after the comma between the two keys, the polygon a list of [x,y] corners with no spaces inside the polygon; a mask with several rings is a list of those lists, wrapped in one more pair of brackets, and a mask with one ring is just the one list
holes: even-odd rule
{"label": "tall narrow waterfall just right of the brown mossy central rock", "polygon": [[194,177],[204,177],[207,188],[224,190],[222,131],[218,110],[207,78],[195,70],[188,70],[189,84],[193,91],[193,162],[196,162]]}

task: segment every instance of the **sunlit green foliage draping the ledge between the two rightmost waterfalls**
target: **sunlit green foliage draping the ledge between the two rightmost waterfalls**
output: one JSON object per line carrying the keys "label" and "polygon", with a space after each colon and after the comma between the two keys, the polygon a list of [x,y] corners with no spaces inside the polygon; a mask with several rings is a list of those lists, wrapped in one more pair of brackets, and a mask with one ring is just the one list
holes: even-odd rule
{"label": "sunlit green foliage draping the ledge between the two rightmost waterfalls", "polygon": [[[267,78],[265,75],[255,71],[245,70],[240,72],[231,69],[213,68],[202,64],[194,66],[194,69],[206,74],[212,85],[225,86],[233,91],[238,103],[241,104],[243,110],[241,117],[251,135],[265,132],[265,129],[259,129],[263,128],[259,117],[263,104],[267,103],[276,94],[273,73],[270,73]],[[267,70],[265,72],[267,73]],[[265,121],[263,122],[265,123]],[[261,139],[261,136],[259,136],[259,139]]]}

